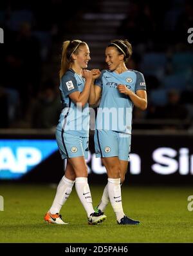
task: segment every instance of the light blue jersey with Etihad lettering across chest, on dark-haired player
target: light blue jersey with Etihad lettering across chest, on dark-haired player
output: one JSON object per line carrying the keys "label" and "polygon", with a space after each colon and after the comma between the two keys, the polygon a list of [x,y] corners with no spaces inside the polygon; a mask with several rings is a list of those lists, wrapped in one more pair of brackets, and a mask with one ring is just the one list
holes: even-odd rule
{"label": "light blue jersey with Etihad lettering across chest, on dark-haired player", "polygon": [[118,84],[125,84],[134,93],[146,90],[143,74],[136,70],[127,70],[122,74],[102,70],[96,79],[96,85],[102,88],[102,98],[96,117],[96,130],[113,130],[131,134],[133,102],[118,92]]}

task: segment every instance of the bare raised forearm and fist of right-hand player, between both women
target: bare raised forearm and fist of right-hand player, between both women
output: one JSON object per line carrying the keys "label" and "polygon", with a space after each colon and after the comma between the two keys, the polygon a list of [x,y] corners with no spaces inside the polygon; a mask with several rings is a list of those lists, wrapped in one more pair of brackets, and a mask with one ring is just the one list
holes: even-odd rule
{"label": "bare raised forearm and fist of right-hand player, between both women", "polygon": [[101,92],[102,92],[101,86],[95,84],[95,79],[100,77],[100,70],[91,70],[91,72],[93,73],[93,79],[92,79],[91,91],[90,91],[90,95],[89,95],[89,104],[95,105],[96,103],[98,103],[98,100],[100,99]]}

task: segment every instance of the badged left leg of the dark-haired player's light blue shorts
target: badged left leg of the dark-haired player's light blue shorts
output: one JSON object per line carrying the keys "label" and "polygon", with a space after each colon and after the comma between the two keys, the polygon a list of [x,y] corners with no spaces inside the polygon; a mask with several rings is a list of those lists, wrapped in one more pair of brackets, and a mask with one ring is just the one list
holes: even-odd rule
{"label": "badged left leg of the dark-haired player's light blue shorts", "polygon": [[116,132],[95,130],[95,155],[98,157],[118,157],[118,140]]}

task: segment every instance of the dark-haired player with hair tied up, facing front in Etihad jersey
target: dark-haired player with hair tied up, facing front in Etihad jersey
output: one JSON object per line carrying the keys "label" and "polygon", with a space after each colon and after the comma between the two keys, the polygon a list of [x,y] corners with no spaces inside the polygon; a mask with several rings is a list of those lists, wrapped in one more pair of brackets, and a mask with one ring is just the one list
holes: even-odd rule
{"label": "dark-haired player with hair tied up, facing front in Etihad jersey", "polygon": [[[147,108],[145,80],[142,73],[128,70],[125,63],[132,54],[127,40],[113,40],[106,48],[108,70],[98,70],[91,86],[89,104],[101,97],[96,117],[95,153],[107,170],[108,182],[97,209],[104,212],[111,202],[118,224],[139,224],[127,217],[122,207],[120,184],[124,182],[131,146],[133,105]],[[95,70],[96,73],[96,70]]]}

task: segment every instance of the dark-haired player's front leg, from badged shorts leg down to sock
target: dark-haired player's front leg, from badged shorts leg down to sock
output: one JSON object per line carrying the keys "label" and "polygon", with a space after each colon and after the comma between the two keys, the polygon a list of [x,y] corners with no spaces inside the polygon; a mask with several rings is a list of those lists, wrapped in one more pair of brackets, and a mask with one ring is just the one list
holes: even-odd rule
{"label": "dark-haired player's front leg, from badged shorts leg down to sock", "polygon": [[95,132],[96,157],[101,157],[107,170],[108,182],[102,195],[98,209],[106,207],[109,199],[116,219],[120,221],[124,217],[120,190],[120,162],[118,159],[118,139],[116,132],[96,130]]}

